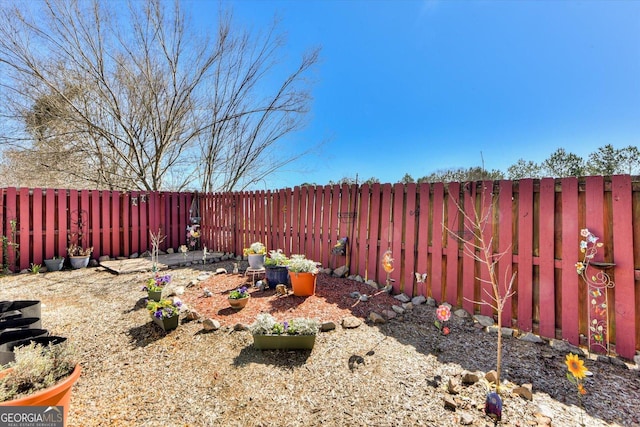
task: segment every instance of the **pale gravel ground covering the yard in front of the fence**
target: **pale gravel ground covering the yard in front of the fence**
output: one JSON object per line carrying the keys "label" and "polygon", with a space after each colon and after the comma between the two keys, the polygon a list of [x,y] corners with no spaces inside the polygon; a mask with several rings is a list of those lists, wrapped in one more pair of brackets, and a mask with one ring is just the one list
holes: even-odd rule
{"label": "pale gravel ground covering the yard in front of the fence", "polygon": [[[220,266],[228,267],[199,268]],[[170,273],[175,285],[186,286],[200,270]],[[248,332],[233,330],[246,320],[234,318],[226,306],[207,313],[224,315],[217,331],[204,332],[202,323],[192,321],[163,332],[144,309],[140,288],[148,277],[97,268],[0,278],[0,299],[41,300],[43,327],[67,336],[79,350],[83,374],[74,387],[70,426],[493,425],[483,413],[487,389],[481,382],[462,385],[458,394],[447,391],[449,380],[459,380],[465,370],[494,368],[495,336],[470,320],[452,318],[445,337],[433,326],[434,309],[422,305],[383,325],[343,329],[338,320],[311,352],[261,352]],[[235,275],[211,276],[187,287],[182,299],[206,312],[202,289],[220,294],[237,281]],[[347,296],[371,292],[324,276],[318,294],[329,287]],[[282,313],[296,317],[296,306],[304,304]],[[321,320],[337,310],[328,299],[314,307]],[[352,314],[362,316],[355,309]],[[565,378],[564,357],[546,344],[505,339],[501,425],[640,425],[635,367],[587,360],[593,377],[581,410]],[[525,383],[532,384],[532,401],[511,392]],[[455,410],[445,408],[445,398]]]}

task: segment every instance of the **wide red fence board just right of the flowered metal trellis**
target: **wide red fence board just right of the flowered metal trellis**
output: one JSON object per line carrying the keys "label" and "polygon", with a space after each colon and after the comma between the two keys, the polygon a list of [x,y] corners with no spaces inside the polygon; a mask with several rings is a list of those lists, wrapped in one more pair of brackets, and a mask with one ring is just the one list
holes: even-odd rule
{"label": "wide red fence board just right of the flowered metal trellis", "polygon": [[633,217],[631,179],[627,176],[611,178],[613,242],[615,252],[615,343],[616,352],[631,359],[636,351],[638,295],[634,283]]}

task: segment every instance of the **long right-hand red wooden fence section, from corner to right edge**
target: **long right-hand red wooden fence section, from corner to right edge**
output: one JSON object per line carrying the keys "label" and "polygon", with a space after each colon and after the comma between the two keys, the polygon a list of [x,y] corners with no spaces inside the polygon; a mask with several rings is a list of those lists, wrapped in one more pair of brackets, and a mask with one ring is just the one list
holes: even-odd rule
{"label": "long right-hand red wooden fence section, from corner to right edge", "polygon": [[[494,314],[485,301],[488,271],[469,255],[471,206],[488,212],[503,280],[515,273],[506,326],[584,343],[586,286],[576,273],[580,229],[600,237],[596,261],[615,263],[609,292],[610,338],[623,357],[640,343],[640,182],[629,176],[474,183],[295,187],[279,191],[201,196],[204,243],[241,253],[261,241],[269,249],[302,253],[351,274],[384,283],[380,259],[391,250],[396,292],[423,294],[474,313]],[[461,211],[462,209],[462,211]],[[346,257],[332,254],[348,237]],[[424,282],[415,273],[427,273]],[[503,280],[504,282],[504,280]]]}

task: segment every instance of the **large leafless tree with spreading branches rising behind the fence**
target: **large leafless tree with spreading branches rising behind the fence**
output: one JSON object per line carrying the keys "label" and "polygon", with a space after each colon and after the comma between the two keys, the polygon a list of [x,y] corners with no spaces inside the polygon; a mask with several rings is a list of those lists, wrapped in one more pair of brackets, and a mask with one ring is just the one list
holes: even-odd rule
{"label": "large leafless tree with spreading branches rising behind the fence", "polygon": [[[251,34],[221,11],[210,30],[197,33],[180,1],[2,3],[0,143],[18,161],[62,153],[48,170],[94,188],[214,191],[262,179],[300,154],[264,161],[303,124],[318,51],[278,77],[276,24]],[[270,90],[274,79],[283,83]]]}

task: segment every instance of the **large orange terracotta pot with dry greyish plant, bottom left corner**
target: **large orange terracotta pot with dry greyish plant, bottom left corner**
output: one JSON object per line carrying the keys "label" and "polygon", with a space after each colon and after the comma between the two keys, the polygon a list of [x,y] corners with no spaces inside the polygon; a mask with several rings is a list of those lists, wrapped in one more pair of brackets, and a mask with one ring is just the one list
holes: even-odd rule
{"label": "large orange terracotta pot with dry greyish plant, bottom left corner", "polygon": [[[58,337],[60,338],[60,337]],[[0,406],[62,406],[67,423],[71,389],[80,378],[75,350],[66,342],[32,342],[14,349],[15,361],[0,371]]]}

